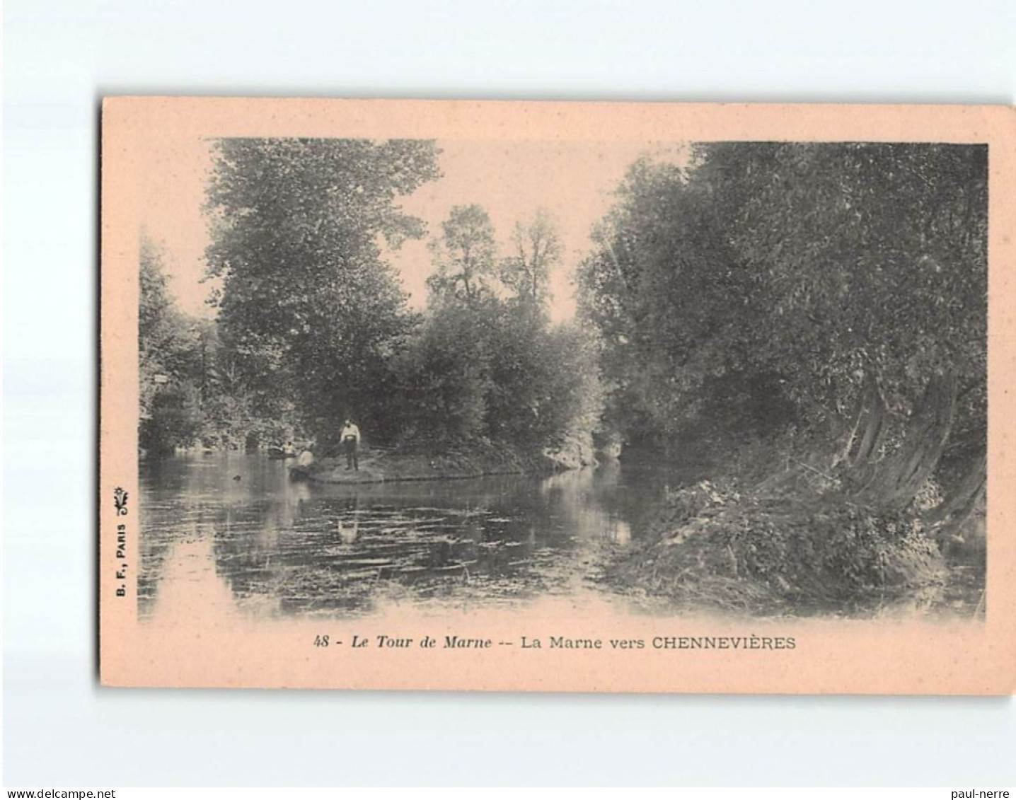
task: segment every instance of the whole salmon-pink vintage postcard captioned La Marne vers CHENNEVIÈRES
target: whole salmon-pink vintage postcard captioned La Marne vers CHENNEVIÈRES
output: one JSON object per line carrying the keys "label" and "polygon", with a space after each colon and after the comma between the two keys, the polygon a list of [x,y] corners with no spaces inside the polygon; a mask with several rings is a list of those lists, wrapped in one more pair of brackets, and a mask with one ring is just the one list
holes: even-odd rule
{"label": "whole salmon-pink vintage postcard captioned La Marne vers CHENNEVI\u00c8RES", "polygon": [[1016,689],[1016,113],[112,97],[114,686]]}

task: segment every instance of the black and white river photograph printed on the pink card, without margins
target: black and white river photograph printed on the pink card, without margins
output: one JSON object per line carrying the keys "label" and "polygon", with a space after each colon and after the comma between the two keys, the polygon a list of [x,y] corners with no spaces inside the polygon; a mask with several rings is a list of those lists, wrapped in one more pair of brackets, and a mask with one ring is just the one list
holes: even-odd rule
{"label": "black and white river photograph printed on the pink card, without margins", "polygon": [[139,238],[142,618],[983,616],[987,145],[202,146]]}

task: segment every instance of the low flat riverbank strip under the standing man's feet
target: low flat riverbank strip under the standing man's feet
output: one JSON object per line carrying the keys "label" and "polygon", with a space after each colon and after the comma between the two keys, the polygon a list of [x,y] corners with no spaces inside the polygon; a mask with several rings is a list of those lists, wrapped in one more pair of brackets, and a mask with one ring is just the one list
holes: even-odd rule
{"label": "low flat riverbank strip under the standing man's feet", "polygon": [[324,458],[308,467],[292,466],[291,475],[320,483],[388,483],[400,480],[456,480],[484,475],[550,475],[592,466],[589,453],[527,453],[508,445],[471,443],[442,453],[364,449],[360,469],[346,468],[344,456]]}

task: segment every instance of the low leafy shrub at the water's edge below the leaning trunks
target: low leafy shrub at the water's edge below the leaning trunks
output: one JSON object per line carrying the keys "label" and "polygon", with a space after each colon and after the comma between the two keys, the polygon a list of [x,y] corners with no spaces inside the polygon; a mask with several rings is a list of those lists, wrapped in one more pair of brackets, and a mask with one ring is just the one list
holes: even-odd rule
{"label": "low leafy shrub at the water's edge below the leaning trunks", "polygon": [[862,611],[941,587],[944,563],[916,508],[831,499],[699,483],[668,498],[649,540],[614,575],[679,604],[754,612],[790,601]]}

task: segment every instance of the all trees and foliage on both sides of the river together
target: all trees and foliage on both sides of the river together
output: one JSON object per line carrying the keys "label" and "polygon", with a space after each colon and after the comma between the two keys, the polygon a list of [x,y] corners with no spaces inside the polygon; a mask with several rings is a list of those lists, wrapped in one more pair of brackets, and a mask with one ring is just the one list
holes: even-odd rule
{"label": "all trees and foliage on both sides of the river together", "polygon": [[941,583],[940,544],[985,502],[987,148],[691,153],[632,165],[579,320],[555,326],[544,210],[499,242],[482,206],[452,208],[407,308],[386,253],[427,235],[399,198],[439,176],[432,142],[218,141],[217,319],[181,315],[141,246],[141,446],[327,454],[346,416],[431,465],[704,444],[722,468],[660,504],[627,584],[780,609]]}

